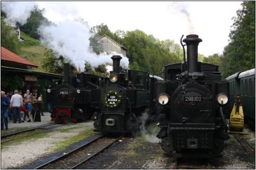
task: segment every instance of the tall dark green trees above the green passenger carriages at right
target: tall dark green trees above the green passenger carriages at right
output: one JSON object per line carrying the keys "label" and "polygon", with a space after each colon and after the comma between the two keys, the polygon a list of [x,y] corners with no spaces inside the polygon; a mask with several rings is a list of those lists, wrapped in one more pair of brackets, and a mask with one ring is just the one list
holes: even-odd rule
{"label": "tall dark green trees above the green passenger carriages at right", "polygon": [[255,67],[255,1],[243,1],[234,17],[230,43],[225,46],[221,67],[223,77]]}

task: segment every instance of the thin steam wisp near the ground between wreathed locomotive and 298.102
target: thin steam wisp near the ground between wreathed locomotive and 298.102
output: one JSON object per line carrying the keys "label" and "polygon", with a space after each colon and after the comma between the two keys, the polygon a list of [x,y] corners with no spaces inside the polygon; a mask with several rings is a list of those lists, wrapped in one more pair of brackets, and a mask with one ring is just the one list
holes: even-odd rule
{"label": "thin steam wisp near the ground between wreathed locomotive and 298.102", "polygon": [[145,127],[148,120],[148,111],[143,112],[138,119],[141,121],[141,135],[146,139],[146,141],[150,143],[159,143],[159,139],[156,137],[157,133],[160,131],[159,127],[154,126],[153,129],[146,129]]}

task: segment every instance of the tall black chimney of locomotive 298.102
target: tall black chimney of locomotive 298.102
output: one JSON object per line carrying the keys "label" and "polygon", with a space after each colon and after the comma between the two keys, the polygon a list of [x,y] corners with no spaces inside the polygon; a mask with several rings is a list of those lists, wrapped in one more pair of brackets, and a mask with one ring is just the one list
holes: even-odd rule
{"label": "tall black chimney of locomotive 298.102", "polygon": [[198,44],[202,39],[198,35],[190,34],[183,42],[187,45],[188,72],[198,72]]}

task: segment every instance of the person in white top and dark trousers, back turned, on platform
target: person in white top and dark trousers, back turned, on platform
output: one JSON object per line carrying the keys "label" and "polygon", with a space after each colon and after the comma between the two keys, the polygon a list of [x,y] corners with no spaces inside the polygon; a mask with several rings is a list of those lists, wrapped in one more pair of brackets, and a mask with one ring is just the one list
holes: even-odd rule
{"label": "person in white top and dark trousers, back turned, on platform", "polygon": [[20,107],[22,106],[22,96],[19,95],[18,90],[14,90],[14,95],[11,99],[11,107],[13,108],[13,114],[14,114],[14,122],[17,123],[17,118],[19,120],[19,123],[21,123],[20,119]]}

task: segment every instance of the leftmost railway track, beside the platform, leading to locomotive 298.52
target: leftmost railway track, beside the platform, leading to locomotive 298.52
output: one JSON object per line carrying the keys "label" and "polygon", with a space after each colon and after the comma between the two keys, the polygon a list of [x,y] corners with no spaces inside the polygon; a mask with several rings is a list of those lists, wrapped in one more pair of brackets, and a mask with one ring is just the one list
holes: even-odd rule
{"label": "leftmost railway track, beside the platform, leading to locomotive 298.52", "polygon": [[[36,126],[36,127],[32,127],[32,128],[26,129],[24,131],[17,131],[17,132],[12,132],[12,133],[9,133],[9,134],[1,135],[1,139],[3,140],[4,138],[10,137],[10,136],[15,136],[17,134],[22,134],[24,132],[35,131],[36,129],[53,129],[53,128],[56,128],[56,127],[60,127],[62,125],[63,124],[57,124],[57,123],[39,125],[39,126]],[[6,142],[6,141],[3,141],[1,143],[4,143],[4,142]]]}

